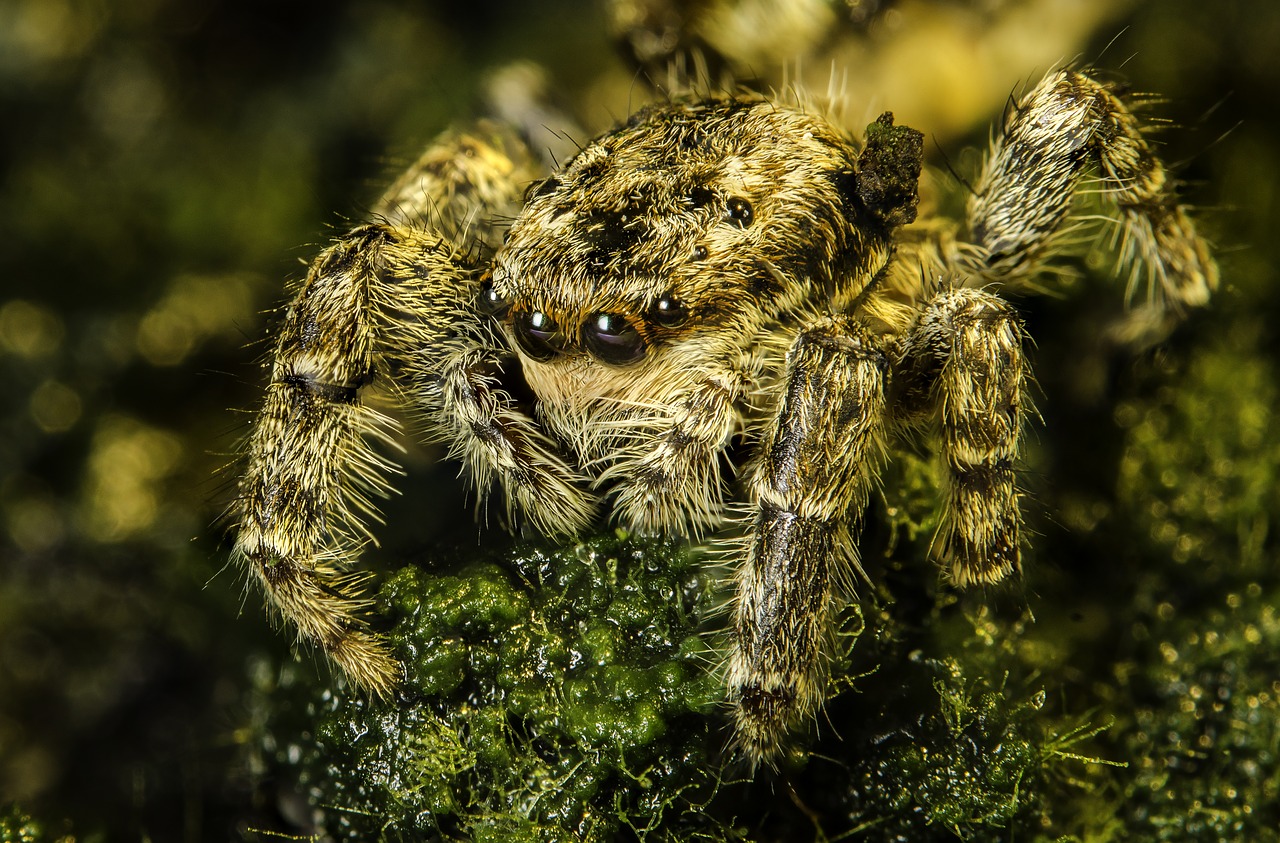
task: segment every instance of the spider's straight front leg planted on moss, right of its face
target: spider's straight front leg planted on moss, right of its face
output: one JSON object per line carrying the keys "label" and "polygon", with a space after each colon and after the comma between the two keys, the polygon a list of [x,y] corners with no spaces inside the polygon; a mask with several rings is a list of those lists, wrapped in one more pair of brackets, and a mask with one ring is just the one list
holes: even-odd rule
{"label": "spider's straight front leg planted on moss, right of its face", "polygon": [[831,603],[860,571],[850,526],[878,458],[888,361],[855,322],[804,331],[750,478],[756,512],[737,573],[728,696],[753,766],[822,704]]}

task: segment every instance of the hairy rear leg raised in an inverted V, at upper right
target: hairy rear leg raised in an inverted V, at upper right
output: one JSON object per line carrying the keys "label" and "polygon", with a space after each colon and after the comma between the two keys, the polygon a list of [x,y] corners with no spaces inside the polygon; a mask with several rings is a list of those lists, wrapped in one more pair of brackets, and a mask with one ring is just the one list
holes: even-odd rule
{"label": "hairy rear leg raised in an inverted V, at upper right", "polygon": [[1034,275],[1094,166],[1120,211],[1130,294],[1146,272],[1151,307],[1176,315],[1206,304],[1217,265],[1178,203],[1174,179],[1111,88],[1071,70],[1051,73],[1006,113],[969,198],[969,233],[980,257],[966,269],[978,280]]}

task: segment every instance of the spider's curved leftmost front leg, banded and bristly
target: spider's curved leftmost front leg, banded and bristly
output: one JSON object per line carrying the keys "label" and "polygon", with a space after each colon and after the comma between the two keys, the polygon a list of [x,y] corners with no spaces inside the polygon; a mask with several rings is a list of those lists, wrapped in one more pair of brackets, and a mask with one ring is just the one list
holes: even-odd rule
{"label": "spider's curved leftmost front leg, banded and bristly", "polygon": [[389,491],[394,466],[374,444],[390,441],[397,425],[361,390],[389,351],[389,292],[407,307],[407,288],[422,294],[461,279],[453,249],[415,229],[366,225],[325,249],[287,311],[248,440],[236,555],[301,638],[379,693],[398,668],[367,631],[358,583],[343,569],[370,539],[371,499]]}

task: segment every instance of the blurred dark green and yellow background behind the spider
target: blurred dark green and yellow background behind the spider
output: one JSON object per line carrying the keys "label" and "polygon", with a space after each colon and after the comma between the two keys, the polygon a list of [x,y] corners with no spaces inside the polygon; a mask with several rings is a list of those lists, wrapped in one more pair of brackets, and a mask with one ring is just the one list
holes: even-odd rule
{"label": "blurred dark green and yellow background behind the spider", "polygon": [[[1009,91],[1059,60],[1097,58],[1167,97],[1157,113],[1176,128],[1160,136],[1165,155],[1220,248],[1213,310],[1167,348],[1119,363],[1092,351],[1096,308],[1028,310],[1046,394],[1032,445],[1036,544],[1053,548],[1041,550],[1052,573],[1032,576],[1028,600],[1106,618],[1149,576],[1123,550],[1098,555],[1096,536],[1115,535],[1117,519],[1170,559],[1208,559],[1221,577],[1242,562],[1260,592],[1280,581],[1268,491],[1280,10],[1100,8],[904,3],[890,23],[920,27],[886,24],[876,37],[890,46],[864,45],[879,64],[849,72],[845,87],[852,114],[893,109],[961,162]],[[1050,13],[1078,23],[1038,23]],[[888,55],[924,22],[954,37]],[[973,38],[989,43],[956,51]],[[51,834],[157,840],[239,839],[282,810],[244,752],[246,675],[291,658],[289,636],[225,567],[218,521],[233,482],[221,468],[262,381],[264,312],[396,164],[475,114],[488,74],[516,60],[547,68],[556,98],[591,129],[625,115],[637,86],[603,13],[567,0],[0,0],[0,810],[18,803]],[[877,79],[888,81],[864,90]],[[1270,507],[1199,518],[1239,536],[1213,558],[1184,527],[1198,518],[1188,507],[1207,512],[1204,496],[1149,523],[1115,503],[1125,482],[1139,490],[1130,498],[1162,482],[1125,462],[1147,435],[1133,408],[1172,406],[1210,348],[1234,349],[1201,377],[1225,390],[1221,406],[1252,397],[1240,423],[1254,432],[1233,458],[1257,459],[1249,490],[1206,495]],[[454,469],[431,471],[429,457],[410,455],[410,489],[460,498]],[[433,540],[434,524],[470,510],[458,500],[421,517],[420,501],[389,504],[389,546]]]}

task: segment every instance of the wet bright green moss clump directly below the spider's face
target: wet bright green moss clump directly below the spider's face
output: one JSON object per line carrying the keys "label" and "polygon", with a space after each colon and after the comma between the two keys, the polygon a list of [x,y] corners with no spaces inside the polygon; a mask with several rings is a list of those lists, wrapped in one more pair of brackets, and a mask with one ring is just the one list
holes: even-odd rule
{"label": "wet bright green moss clump directly below the spider's face", "polygon": [[689,551],[617,535],[404,568],[378,597],[401,697],[321,692],[282,757],[337,839],[719,837],[709,594]]}

